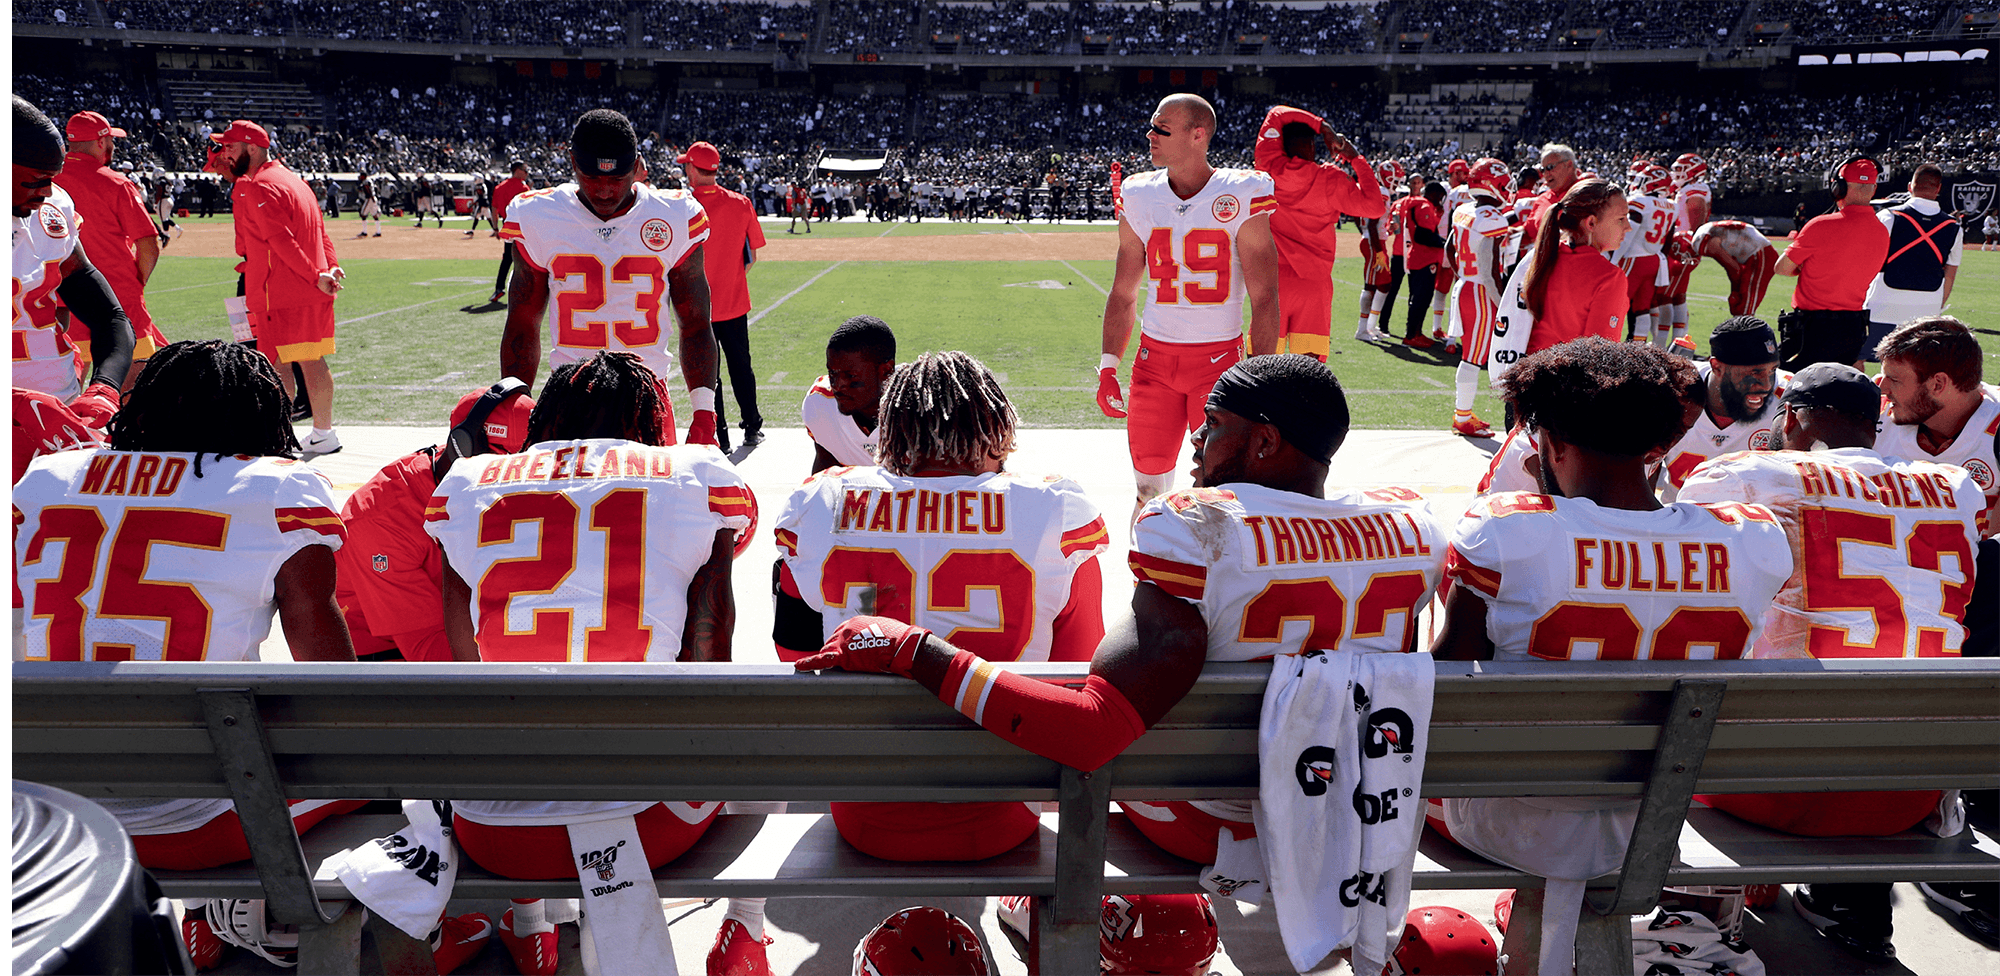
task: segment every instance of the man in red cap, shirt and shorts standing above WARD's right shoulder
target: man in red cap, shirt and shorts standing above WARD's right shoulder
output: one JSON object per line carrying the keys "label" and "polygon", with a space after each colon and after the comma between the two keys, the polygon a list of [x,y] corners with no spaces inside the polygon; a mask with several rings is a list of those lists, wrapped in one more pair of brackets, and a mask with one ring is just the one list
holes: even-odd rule
{"label": "man in red cap, shirt and shorts standing above WARD's right shoulder", "polygon": [[236,250],[244,260],[244,296],[258,350],[278,364],[290,398],[296,362],[312,404],[312,434],[302,438],[306,456],[340,450],[334,434],[334,294],[340,292],[340,258],[326,236],[320,200],[296,172],[270,156],[270,132],[250,120],[208,136],[220,144],[216,162],[236,180]]}

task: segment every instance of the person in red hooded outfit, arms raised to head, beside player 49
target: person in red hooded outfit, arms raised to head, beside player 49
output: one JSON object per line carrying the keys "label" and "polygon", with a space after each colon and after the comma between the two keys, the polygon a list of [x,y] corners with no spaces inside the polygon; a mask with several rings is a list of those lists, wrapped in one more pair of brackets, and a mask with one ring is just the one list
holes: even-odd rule
{"label": "person in red hooded outfit, arms raised to head, beside player 49", "polygon": [[[1350,170],[1318,162],[1318,142],[1326,140]],[[1270,236],[1278,244],[1278,308],[1286,352],[1304,352],[1326,362],[1334,324],[1334,254],[1342,214],[1362,220],[1382,216],[1386,200],[1374,166],[1324,118],[1292,106],[1272,106],[1258,126],[1256,168],[1268,172],[1278,198],[1270,216]]]}

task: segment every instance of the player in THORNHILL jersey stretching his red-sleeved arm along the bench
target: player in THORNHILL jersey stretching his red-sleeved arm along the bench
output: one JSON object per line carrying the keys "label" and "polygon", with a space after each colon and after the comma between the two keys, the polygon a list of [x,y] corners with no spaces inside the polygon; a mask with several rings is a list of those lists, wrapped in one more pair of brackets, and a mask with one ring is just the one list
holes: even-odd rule
{"label": "player in THORNHILL jersey stretching his red-sleeved arm along the bench", "polygon": [[[1148,502],[1138,520],[1132,618],[1098,646],[1082,690],[874,616],[842,624],[798,668],[904,674],[1000,738],[1094,770],[1166,716],[1204,662],[1410,650],[1440,580],[1444,526],[1406,488],[1328,490],[1346,432],[1346,396],[1316,358],[1232,366],[1194,436],[1194,488]],[[894,640],[854,640],[870,628]],[[1238,802],[1128,808],[1140,830],[1198,864],[1214,862],[1220,830],[1254,832]]]}

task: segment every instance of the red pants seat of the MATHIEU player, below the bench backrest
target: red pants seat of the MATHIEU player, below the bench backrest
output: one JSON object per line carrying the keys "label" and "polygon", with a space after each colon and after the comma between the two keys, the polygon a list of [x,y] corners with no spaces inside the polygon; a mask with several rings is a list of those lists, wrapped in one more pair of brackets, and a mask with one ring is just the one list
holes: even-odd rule
{"label": "red pants seat of the MATHIEU player, below the bench backrest", "polygon": [[882,860],[986,860],[1042,826],[1026,804],[828,804],[834,828]]}

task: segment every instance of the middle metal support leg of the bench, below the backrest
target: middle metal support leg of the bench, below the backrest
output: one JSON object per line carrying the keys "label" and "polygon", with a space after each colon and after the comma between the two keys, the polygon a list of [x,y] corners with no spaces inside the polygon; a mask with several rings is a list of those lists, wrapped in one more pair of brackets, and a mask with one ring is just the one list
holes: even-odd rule
{"label": "middle metal support leg of the bench, below the backrest", "polygon": [[1030,972],[1098,972],[1098,916],[1104,912],[1104,828],[1110,814],[1110,768],[1062,768],[1056,832],[1056,896],[1034,914]]}

